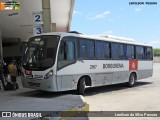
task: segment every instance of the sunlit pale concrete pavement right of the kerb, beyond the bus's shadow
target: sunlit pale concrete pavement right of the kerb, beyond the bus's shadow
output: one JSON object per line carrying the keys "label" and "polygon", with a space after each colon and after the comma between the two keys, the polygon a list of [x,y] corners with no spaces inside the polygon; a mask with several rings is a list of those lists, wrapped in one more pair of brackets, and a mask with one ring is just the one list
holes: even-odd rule
{"label": "sunlit pale concrete pavement right of the kerb, beyond the bus's shadow", "polygon": [[[124,84],[88,89],[84,96],[90,111],[160,111],[160,63],[154,64],[153,77],[140,80],[133,88]],[[160,117],[92,117],[89,120],[160,120]]]}

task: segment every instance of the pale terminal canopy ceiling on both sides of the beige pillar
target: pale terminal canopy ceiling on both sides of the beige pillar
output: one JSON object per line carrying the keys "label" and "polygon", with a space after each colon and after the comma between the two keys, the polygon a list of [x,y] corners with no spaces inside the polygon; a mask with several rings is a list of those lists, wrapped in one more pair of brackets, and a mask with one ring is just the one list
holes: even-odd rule
{"label": "pale terminal canopy ceiling on both sides of the beige pillar", "polygon": [[[7,0],[0,0],[0,2]],[[9,1],[9,0],[8,0]],[[17,0],[20,10],[0,11],[0,30],[3,38],[20,38],[27,41],[33,36],[33,12],[43,11],[42,0]],[[50,0],[51,23],[57,32],[70,29],[74,0]]]}

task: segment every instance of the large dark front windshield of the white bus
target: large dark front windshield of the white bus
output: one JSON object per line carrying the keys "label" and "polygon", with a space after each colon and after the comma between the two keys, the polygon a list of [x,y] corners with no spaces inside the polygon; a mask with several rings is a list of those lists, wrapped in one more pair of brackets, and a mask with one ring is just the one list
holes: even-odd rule
{"label": "large dark front windshield of the white bus", "polygon": [[60,36],[30,38],[24,51],[23,67],[28,70],[45,70],[54,65]]}

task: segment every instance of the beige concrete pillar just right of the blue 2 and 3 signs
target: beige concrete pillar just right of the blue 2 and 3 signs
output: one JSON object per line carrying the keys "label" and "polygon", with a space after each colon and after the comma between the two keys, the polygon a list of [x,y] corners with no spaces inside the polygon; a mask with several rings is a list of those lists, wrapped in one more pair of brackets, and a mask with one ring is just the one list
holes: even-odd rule
{"label": "beige concrete pillar just right of the blue 2 and 3 signs", "polygon": [[43,10],[43,32],[51,32],[51,9],[50,0],[42,0],[42,10]]}

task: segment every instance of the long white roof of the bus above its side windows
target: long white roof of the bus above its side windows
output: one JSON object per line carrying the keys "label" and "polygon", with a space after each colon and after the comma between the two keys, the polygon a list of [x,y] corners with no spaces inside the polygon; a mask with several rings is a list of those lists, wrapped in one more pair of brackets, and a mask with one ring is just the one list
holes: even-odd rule
{"label": "long white roof of the bus above its side windows", "polygon": [[133,45],[142,45],[142,46],[150,46],[148,44],[138,43],[134,39],[131,38],[125,38],[125,37],[118,37],[118,36],[112,36],[112,35],[106,35],[106,36],[90,36],[90,35],[83,35],[81,33],[67,33],[67,32],[50,32],[50,33],[43,33],[42,35],[59,35],[61,37],[64,36],[74,36],[74,37],[80,37],[80,38],[86,38],[86,39],[94,39],[94,40],[102,40],[102,41],[108,41],[108,42],[118,42],[118,43],[125,43],[125,44],[133,44]]}

